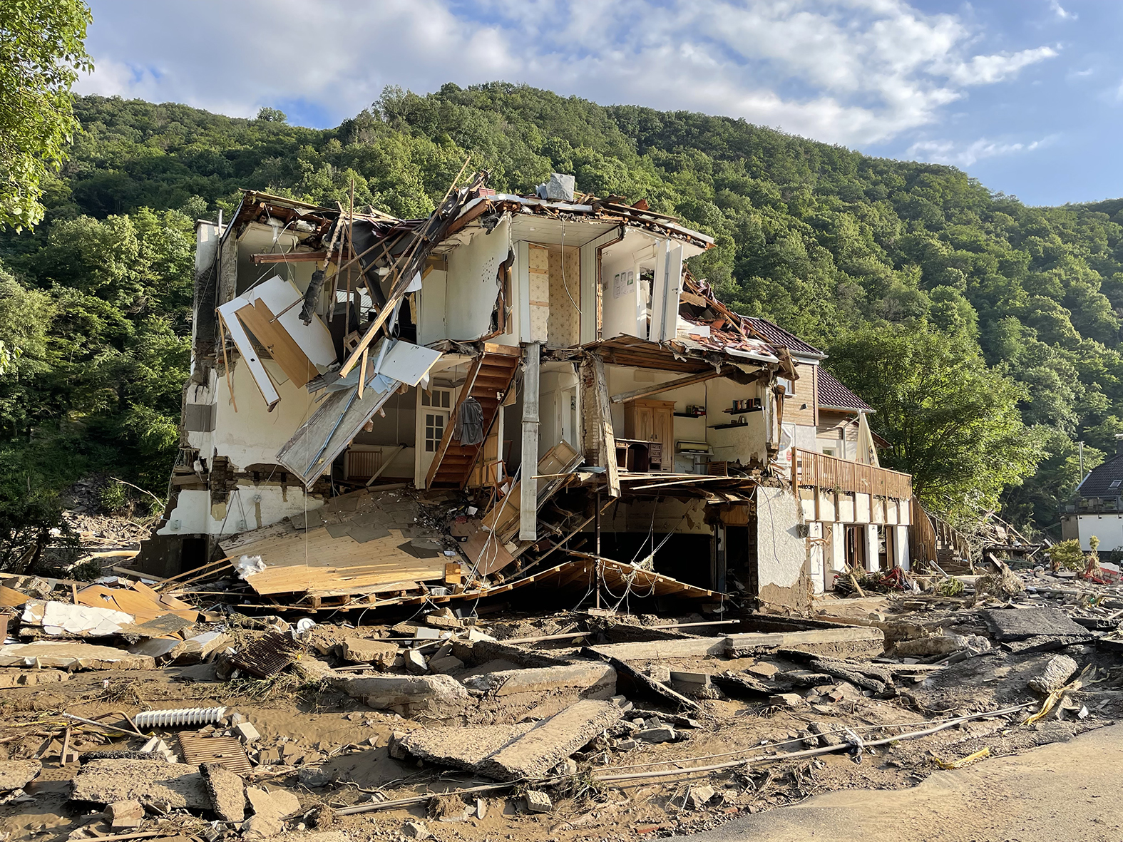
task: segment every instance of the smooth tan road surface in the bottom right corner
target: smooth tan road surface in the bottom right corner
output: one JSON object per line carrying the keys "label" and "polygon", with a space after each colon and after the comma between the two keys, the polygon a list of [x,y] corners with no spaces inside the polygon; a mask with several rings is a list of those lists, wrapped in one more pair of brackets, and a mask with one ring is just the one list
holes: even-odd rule
{"label": "smooth tan road surface in the bottom right corner", "polygon": [[940,771],[912,789],[815,796],[691,836],[697,842],[1117,842],[1123,725]]}

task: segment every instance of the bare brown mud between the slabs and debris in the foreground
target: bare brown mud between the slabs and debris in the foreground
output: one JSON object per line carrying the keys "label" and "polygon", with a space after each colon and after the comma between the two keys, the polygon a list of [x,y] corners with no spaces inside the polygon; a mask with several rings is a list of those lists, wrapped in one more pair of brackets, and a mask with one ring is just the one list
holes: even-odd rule
{"label": "bare brown mud between the slabs and debris in the foreground", "polygon": [[[880,611],[885,616],[901,610],[900,601],[884,598],[838,603],[851,614],[869,615],[873,611],[876,615]],[[957,608],[958,604],[933,604],[923,611],[910,611],[907,615],[910,622],[924,622],[946,630],[955,628],[960,633],[985,632],[977,614]],[[838,605],[832,608],[834,613],[841,610]],[[496,638],[510,639],[554,633],[581,621],[583,617],[574,614],[508,617],[489,626],[489,631]],[[658,619],[630,620],[632,623],[643,621],[650,624]],[[325,638],[320,642],[327,646],[332,635],[375,637],[383,631],[377,626],[334,630],[321,624],[313,634]],[[545,642],[528,649],[557,658],[572,658],[578,652],[565,641]],[[634,748],[628,748],[627,738],[623,743],[620,736],[597,738],[574,756],[577,774],[549,790],[554,799],[553,812],[528,813],[521,789],[515,787],[481,796],[482,818],[476,815],[474,796],[442,799],[409,809],[346,816],[334,813],[353,805],[494,782],[416,760],[392,758],[390,743],[394,732],[533,722],[562,710],[572,698],[545,693],[529,701],[480,699],[453,715],[437,711],[404,719],[395,713],[371,710],[327,685],[302,683],[292,672],[265,680],[223,681],[218,678],[213,663],[137,671],[80,671],[63,683],[0,690],[0,721],[3,723],[0,754],[11,759],[40,757],[44,765],[43,772],[27,787],[28,800],[0,806],[0,839],[51,842],[110,832],[102,818],[101,805],[70,800],[70,780],[79,765],[60,765],[62,711],[94,719],[107,714],[131,716],[153,708],[229,706],[228,714],[243,714],[261,733],[261,739],[250,747],[252,757],[262,759],[276,752],[280,761],[255,766],[247,782],[294,793],[300,799],[301,812],[290,825],[296,832],[346,833],[349,840],[396,839],[412,821],[423,823],[437,840],[634,840],[694,833],[738,815],[797,803],[832,790],[911,787],[939,769],[941,763],[952,763],[982,749],[988,749],[993,757],[1011,754],[1113,724],[1123,715],[1123,662],[1087,644],[1068,647],[1063,651],[1075,658],[1081,669],[1089,667],[1084,686],[1070,693],[1048,717],[1032,725],[1017,724],[1042,699],[1026,683],[1043,669],[1056,651],[1016,656],[993,649],[933,669],[921,680],[898,679],[900,694],[893,698],[876,698],[852,685],[839,683],[802,689],[802,701],[795,706],[784,706],[767,699],[722,697],[711,688],[697,699],[702,711],[688,713],[696,726],[678,727],[678,741],[638,742]],[[805,666],[776,657],[692,658],[664,660],[659,665],[674,670],[709,674],[732,670],[749,676],[767,675],[774,668],[783,671]],[[454,677],[463,679],[471,674],[514,666],[493,660],[465,667]],[[636,661],[632,666],[645,669],[651,665]],[[639,710],[665,713],[668,722],[676,713],[651,698],[629,694],[629,701]],[[921,730],[941,717],[1023,703],[1034,706],[1011,716],[962,723],[920,740],[867,749],[858,756],[834,753],[784,762],[751,761],[755,753],[763,751],[798,751],[818,744],[807,733],[812,723],[831,731],[850,727],[869,741]],[[626,714],[626,719],[629,715]],[[121,724],[124,717],[109,715],[104,721]],[[175,730],[161,732],[173,750],[177,750],[175,733]],[[135,750],[143,743],[139,736],[98,736],[98,729],[89,727],[83,734],[76,733],[72,748],[79,751]],[[593,772],[656,772],[682,766],[720,763],[730,760],[732,752],[739,752],[732,754],[738,765],[718,771],[683,771],[669,777],[609,785],[592,779]],[[748,762],[740,762],[742,760]],[[326,775],[317,779],[310,774],[316,769]],[[692,803],[707,794],[704,787],[712,787],[713,795],[702,804]],[[465,813],[469,815],[464,817]],[[141,830],[158,831],[162,836],[179,832],[200,840],[218,840],[225,833],[235,833],[227,826],[209,823],[204,816],[174,812],[165,818],[149,817]],[[323,842],[328,842],[327,838]]]}

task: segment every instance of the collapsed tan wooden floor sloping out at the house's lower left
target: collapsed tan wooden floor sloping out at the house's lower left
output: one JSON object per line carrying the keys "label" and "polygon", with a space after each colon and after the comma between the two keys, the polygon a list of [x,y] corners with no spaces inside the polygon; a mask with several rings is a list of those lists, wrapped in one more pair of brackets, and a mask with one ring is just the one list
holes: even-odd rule
{"label": "collapsed tan wooden floor sloping out at the house's lower left", "polygon": [[410,591],[445,578],[440,534],[401,494],[355,492],[272,527],[222,541],[230,564],[261,556],[264,570],[246,580],[258,594],[347,596]]}

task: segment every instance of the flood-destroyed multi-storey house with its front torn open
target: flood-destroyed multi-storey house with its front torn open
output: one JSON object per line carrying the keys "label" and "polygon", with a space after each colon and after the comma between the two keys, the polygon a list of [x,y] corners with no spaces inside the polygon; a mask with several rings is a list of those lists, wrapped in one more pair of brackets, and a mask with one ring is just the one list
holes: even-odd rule
{"label": "flood-destroyed multi-storey house with its front torn open", "polygon": [[846,447],[868,406],[642,201],[481,174],[427,219],[246,192],[197,231],[150,573],[220,561],[313,607],[537,583],[767,608],[909,566],[910,477]]}

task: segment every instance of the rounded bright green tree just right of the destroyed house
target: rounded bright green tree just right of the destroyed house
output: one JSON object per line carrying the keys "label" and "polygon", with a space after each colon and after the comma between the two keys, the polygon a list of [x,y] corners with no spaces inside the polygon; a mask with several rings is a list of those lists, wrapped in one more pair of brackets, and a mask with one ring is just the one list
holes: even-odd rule
{"label": "rounded bright green tree just right of the destroyed house", "polygon": [[1040,459],[1022,390],[962,341],[932,330],[861,328],[831,348],[831,369],[877,412],[888,467],[913,475],[925,505],[964,519],[994,509]]}

